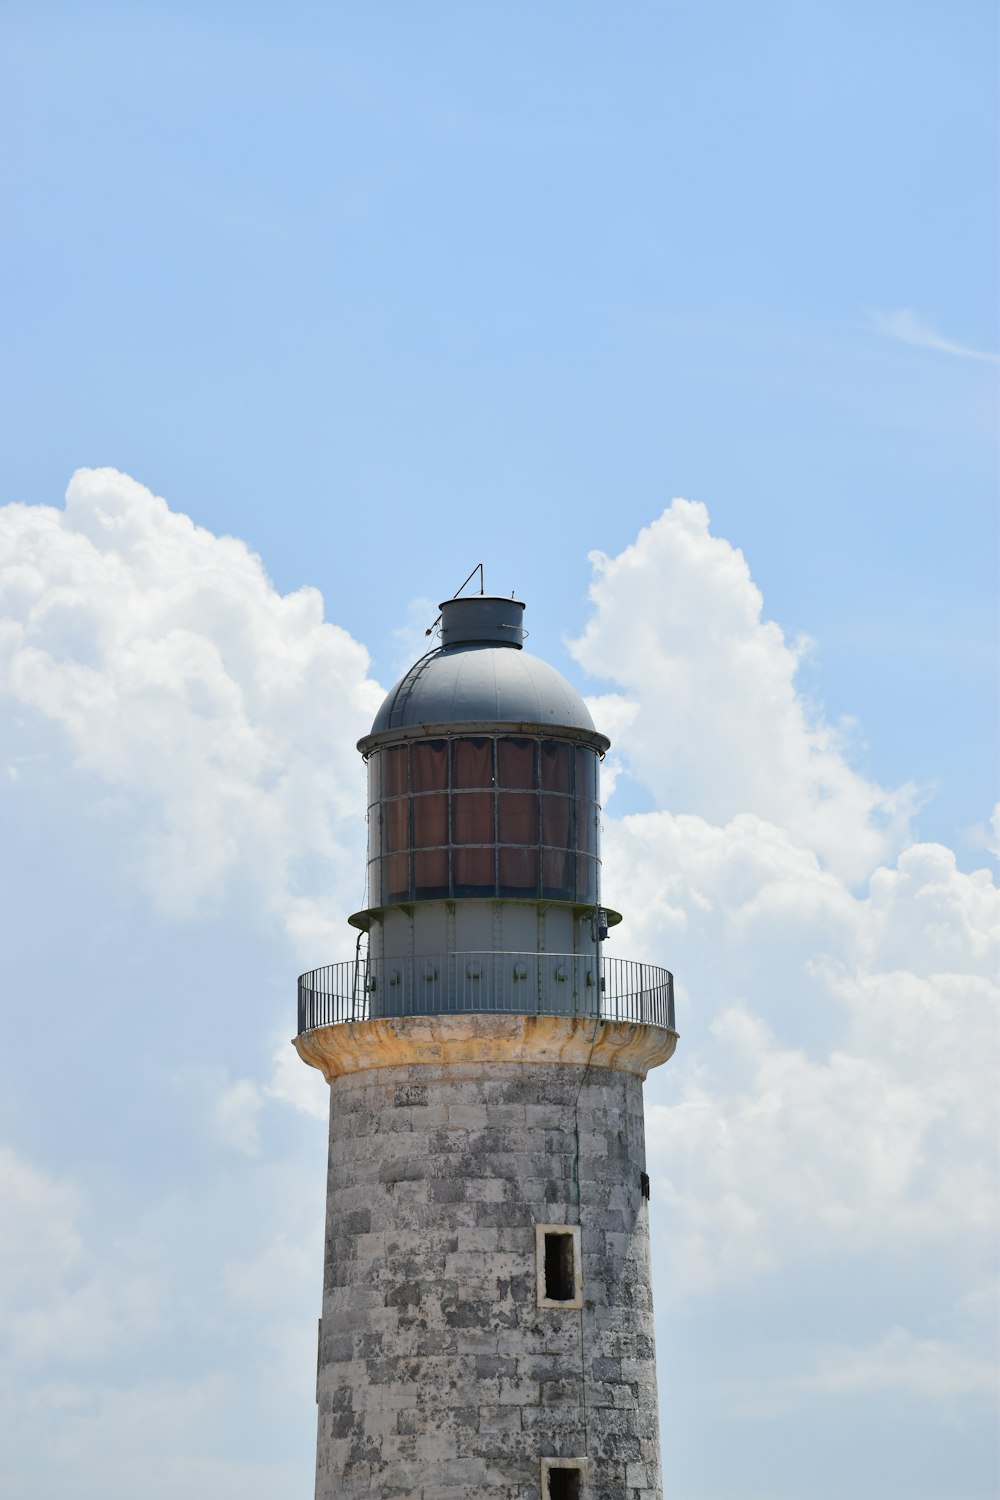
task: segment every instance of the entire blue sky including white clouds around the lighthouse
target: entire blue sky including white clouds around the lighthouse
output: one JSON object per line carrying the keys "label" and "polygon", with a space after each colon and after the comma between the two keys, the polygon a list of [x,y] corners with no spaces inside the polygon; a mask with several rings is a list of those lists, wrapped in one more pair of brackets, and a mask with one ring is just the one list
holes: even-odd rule
{"label": "entire blue sky including white clouds around the lighthouse", "polygon": [[975,0],[4,6],[10,1492],[133,1496],[150,1412],[163,1492],[309,1492],[273,1059],[349,950],[354,738],[483,560],[598,699],[619,951],[681,986],[670,1491],[993,1497],[996,46]]}

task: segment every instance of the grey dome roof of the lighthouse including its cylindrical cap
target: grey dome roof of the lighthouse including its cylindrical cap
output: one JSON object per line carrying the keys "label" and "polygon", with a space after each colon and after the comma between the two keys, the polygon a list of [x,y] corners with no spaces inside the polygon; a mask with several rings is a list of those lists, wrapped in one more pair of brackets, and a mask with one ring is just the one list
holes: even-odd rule
{"label": "grey dome roof of the lighthouse including its cylindrical cap", "polygon": [[580,694],[547,662],[520,648],[523,608],[517,600],[481,596],[447,600],[441,606],[444,645],[411,666],[358,747],[459,726],[507,724],[568,730],[606,750],[609,741],[594,728]]}

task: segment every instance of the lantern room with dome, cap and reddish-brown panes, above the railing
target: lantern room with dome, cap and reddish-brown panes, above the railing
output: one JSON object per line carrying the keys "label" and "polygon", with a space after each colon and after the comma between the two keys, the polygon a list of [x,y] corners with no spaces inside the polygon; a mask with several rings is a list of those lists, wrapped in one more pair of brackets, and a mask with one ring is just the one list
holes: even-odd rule
{"label": "lantern room with dome, cap and reddish-brown panes, above the railing", "polygon": [[586,956],[601,908],[600,759],[609,741],[564,676],[523,650],[525,606],[441,604],[441,644],[358,742],[369,774],[369,958]]}

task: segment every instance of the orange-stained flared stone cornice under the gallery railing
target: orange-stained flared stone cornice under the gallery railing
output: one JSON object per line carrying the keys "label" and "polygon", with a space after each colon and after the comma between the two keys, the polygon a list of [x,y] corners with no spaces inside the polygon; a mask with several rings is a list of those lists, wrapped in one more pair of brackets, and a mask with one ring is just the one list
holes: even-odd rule
{"label": "orange-stained flared stone cornice under the gallery railing", "polygon": [[678,1034],[666,1026],[595,1016],[391,1016],[316,1026],[295,1052],[327,1083],[345,1072],[412,1064],[561,1062],[615,1068],[645,1078],[667,1062]]}

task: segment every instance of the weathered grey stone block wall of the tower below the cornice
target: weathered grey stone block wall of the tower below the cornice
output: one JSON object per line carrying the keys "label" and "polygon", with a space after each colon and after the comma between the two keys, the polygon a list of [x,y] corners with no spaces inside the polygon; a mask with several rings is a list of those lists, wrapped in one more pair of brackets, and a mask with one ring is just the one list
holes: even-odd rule
{"label": "weathered grey stone block wall of the tower below the cornice", "polygon": [[[331,1082],[316,1500],[660,1500],[642,1080],[411,1064]],[[540,1308],[535,1224],[583,1305]]]}

